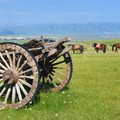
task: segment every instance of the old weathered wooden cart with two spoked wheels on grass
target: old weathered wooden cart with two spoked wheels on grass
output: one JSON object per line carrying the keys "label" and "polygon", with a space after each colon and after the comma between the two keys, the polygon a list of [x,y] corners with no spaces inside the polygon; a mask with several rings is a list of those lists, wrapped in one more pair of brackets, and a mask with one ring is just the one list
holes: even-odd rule
{"label": "old weathered wooden cart with two spoked wheels on grass", "polygon": [[19,109],[29,104],[37,91],[60,91],[72,76],[71,46],[31,40],[19,45],[0,43],[0,109]]}

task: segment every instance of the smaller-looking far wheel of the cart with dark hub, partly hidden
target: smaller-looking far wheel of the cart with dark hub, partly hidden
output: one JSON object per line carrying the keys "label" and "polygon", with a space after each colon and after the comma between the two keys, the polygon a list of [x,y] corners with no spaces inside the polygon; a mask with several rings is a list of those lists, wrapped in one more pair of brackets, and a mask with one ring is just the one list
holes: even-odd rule
{"label": "smaller-looking far wheel of the cart with dark hub, partly hidden", "polygon": [[46,60],[42,68],[41,84],[43,90],[60,91],[69,83],[72,76],[70,54],[67,52],[62,56]]}

